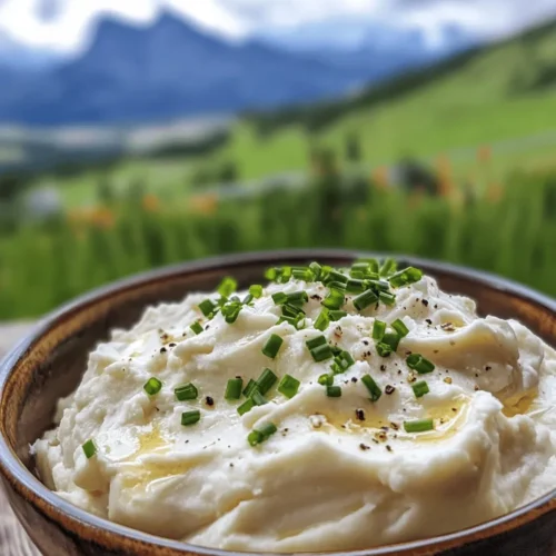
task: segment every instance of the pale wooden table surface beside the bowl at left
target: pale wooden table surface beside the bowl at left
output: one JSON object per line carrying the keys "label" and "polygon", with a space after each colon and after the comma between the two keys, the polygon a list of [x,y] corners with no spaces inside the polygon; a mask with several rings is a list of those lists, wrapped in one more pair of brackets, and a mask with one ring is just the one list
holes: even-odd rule
{"label": "pale wooden table surface beside the bowl at left", "polygon": [[[0,358],[30,330],[32,325],[19,322],[0,325]],[[23,528],[19,525],[0,488],[0,555],[1,556],[40,556]],[[56,556],[46,555],[46,556]]]}

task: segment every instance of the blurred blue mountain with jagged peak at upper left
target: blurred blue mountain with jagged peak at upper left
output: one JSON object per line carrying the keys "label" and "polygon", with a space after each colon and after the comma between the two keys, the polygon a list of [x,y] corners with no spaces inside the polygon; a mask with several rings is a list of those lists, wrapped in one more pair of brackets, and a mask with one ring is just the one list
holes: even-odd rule
{"label": "blurred blue mountain with jagged peak at upper left", "polygon": [[0,70],[0,121],[152,121],[331,97],[358,71],[259,41],[229,43],[171,13],[150,27],[100,20],[79,58],[33,76]]}

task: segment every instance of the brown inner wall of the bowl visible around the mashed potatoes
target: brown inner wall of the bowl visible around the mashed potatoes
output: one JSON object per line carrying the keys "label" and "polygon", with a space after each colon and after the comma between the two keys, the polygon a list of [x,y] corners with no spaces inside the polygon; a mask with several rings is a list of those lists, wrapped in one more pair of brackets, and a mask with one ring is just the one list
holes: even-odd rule
{"label": "brown inner wall of the bowl visible around the mashed potatoes", "polygon": [[[8,441],[31,471],[29,444],[52,424],[57,400],[79,384],[87,355],[109,330],[129,327],[146,307],[177,301],[190,291],[214,289],[222,276],[235,276],[240,286],[262,281],[266,268],[285,262],[321,260],[346,265],[354,254],[312,252],[252,255],[217,259],[145,275],[95,292],[47,319],[30,342],[24,357],[17,358],[3,391],[3,428]],[[516,318],[556,345],[556,315],[546,298],[504,280],[429,261],[405,258],[438,279],[443,289],[474,298],[483,315]]]}

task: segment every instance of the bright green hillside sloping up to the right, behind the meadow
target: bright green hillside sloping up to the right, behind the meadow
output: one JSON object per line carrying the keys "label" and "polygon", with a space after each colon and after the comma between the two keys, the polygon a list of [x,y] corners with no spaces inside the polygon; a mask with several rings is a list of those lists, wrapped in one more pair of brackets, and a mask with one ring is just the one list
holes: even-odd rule
{"label": "bright green hillside sloping up to the right, behind the meadow", "polygon": [[381,165],[547,130],[556,130],[556,22],[358,96],[251,115],[226,156],[251,178],[306,168],[308,135],[342,152],[355,132],[364,160]]}

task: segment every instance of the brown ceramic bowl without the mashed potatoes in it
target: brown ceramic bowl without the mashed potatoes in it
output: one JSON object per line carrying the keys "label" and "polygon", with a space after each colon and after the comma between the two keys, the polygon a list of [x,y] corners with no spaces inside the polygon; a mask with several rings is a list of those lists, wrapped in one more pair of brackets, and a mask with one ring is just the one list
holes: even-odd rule
{"label": "brown ceramic bowl without the mashed potatoes in it", "polygon": [[[286,251],[182,265],[108,286],[42,320],[1,365],[0,470],[11,506],[43,554],[231,556],[139,533],[68,504],[36,477],[29,444],[51,427],[56,401],[79,384],[87,354],[107,338],[111,328],[132,325],[148,305],[179,300],[193,290],[210,290],[225,275],[235,276],[245,286],[260,282],[264,269],[269,266],[315,259],[346,265],[356,255]],[[407,257],[401,260],[436,277],[447,291],[473,297],[480,312],[517,318],[556,345],[553,300],[490,275]],[[512,514],[466,530],[350,556],[550,555],[556,553],[555,509],[556,489]]]}

